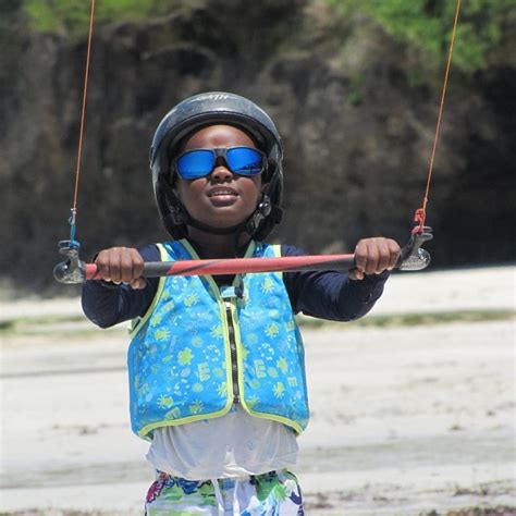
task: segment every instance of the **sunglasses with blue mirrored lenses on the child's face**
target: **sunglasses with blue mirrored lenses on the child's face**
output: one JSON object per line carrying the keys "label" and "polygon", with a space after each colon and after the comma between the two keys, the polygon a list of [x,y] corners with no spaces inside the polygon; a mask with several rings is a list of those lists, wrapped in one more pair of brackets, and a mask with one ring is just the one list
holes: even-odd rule
{"label": "sunglasses with blue mirrored lenses on the child's face", "polygon": [[175,170],[183,180],[198,180],[213,172],[219,158],[223,158],[228,169],[238,175],[258,175],[267,167],[266,155],[261,150],[251,147],[226,147],[187,150],[175,159]]}

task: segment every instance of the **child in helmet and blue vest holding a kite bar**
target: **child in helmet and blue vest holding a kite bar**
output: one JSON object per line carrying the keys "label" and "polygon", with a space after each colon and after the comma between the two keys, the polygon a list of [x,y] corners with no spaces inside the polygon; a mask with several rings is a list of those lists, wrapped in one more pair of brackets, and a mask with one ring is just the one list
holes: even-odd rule
{"label": "child in helmet and blue vest holding a kite bar", "polygon": [[296,435],[308,422],[294,314],[366,315],[400,257],[360,241],[356,268],[236,277],[142,278],[145,261],[292,256],[265,238],[281,221],[283,148],[258,106],[226,93],[177,105],[156,132],[150,165],[172,241],[96,258],[83,291],[102,328],[135,319],[128,352],[132,427],[151,441],[157,480],[146,514],[302,515]]}

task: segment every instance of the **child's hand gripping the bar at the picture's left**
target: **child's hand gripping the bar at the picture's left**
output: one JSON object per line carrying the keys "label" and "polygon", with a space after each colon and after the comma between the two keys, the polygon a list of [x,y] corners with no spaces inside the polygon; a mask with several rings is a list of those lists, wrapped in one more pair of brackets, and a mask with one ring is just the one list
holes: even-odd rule
{"label": "child's hand gripping the bar at the picture's left", "polygon": [[144,259],[133,247],[110,247],[101,250],[95,259],[97,275],[113,283],[127,283],[133,288],[145,288],[142,278]]}

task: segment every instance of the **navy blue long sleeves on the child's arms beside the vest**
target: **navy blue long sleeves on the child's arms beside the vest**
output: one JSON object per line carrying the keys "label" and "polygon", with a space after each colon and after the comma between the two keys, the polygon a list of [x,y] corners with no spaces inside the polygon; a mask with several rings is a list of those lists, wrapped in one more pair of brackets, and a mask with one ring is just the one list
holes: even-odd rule
{"label": "navy blue long sleeves on the child's arms beside the vest", "polygon": [[[159,249],[153,244],[138,250],[145,261],[161,261]],[[290,245],[282,245],[281,254],[306,255]],[[294,314],[303,312],[334,321],[351,321],[365,316],[381,296],[388,278],[388,272],[367,275],[358,281],[339,271],[283,273]],[[101,328],[140,317],[152,303],[158,283],[158,278],[149,278],[145,288],[134,290],[125,284],[115,286],[102,281],[87,281],[82,297],[84,312]]]}

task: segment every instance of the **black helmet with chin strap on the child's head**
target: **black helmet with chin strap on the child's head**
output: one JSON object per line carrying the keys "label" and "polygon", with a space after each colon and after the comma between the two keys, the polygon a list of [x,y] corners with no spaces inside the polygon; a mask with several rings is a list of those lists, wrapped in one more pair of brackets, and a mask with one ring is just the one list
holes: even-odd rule
{"label": "black helmet with chin strap on the child's head", "polygon": [[213,233],[231,233],[237,228],[217,229],[194,220],[172,188],[171,164],[184,138],[202,126],[235,125],[255,139],[268,158],[263,181],[268,186],[254,213],[241,231],[263,239],[281,222],[283,189],[283,146],[270,116],[256,103],[234,94],[211,91],[189,97],[175,106],[158,125],[150,147],[150,170],[161,220],[173,238],[186,236],[186,224]]}

